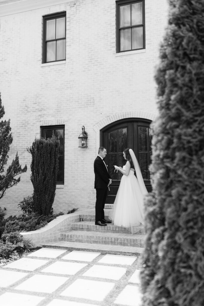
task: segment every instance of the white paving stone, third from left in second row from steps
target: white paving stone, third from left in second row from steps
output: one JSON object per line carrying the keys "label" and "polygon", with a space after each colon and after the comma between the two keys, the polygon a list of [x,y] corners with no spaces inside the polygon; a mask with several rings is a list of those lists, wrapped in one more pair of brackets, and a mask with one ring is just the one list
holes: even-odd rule
{"label": "white paving stone, third from left in second row from steps", "polygon": [[86,271],[83,276],[118,280],[125,274],[125,272],[125,268],[94,265]]}

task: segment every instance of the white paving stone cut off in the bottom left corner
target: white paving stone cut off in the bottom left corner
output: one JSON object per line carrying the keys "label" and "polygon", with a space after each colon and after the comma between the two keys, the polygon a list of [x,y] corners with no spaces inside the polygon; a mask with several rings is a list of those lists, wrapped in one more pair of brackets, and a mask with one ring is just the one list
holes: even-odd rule
{"label": "white paving stone cut off in the bottom left corner", "polygon": [[0,296],[1,306],[36,306],[44,297],[6,292]]}

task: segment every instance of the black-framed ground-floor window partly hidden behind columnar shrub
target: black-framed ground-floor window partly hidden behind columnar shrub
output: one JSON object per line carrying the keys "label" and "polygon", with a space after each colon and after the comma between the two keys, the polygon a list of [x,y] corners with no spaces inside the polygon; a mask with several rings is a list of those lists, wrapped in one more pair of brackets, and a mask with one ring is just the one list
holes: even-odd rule
{"label": "black-framed ground-floor window partly hidden behind columnar shrub", "polygon": [[47,139],[51,138],[52,134],[60,141],[58,165],[59,170],[57,174],[57,184],[64,184],[64,164],[65,164],[65,126],[64,125],[48,125],[41,126],[41,137]]}

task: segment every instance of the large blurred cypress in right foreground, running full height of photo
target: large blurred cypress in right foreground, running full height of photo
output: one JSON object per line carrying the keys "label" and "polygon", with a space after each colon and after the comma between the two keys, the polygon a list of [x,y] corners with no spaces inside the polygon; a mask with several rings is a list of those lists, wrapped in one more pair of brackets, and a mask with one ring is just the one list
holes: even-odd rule
{"label": "large blurred cypress in right foreground, running full height of photo", "polygon": [[156,73],[143,306],[204,305],[204,1],[169,0]]}

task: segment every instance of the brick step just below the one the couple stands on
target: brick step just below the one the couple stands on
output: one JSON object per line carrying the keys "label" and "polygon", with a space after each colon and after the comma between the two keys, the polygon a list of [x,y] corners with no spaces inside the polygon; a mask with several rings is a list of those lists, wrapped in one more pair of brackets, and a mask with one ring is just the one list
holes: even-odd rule
{"label": "brick step just below the one the couple stands on", "polygon": [[101,233],[101,232],[80,232],[69,231],[60,233],[60,241],[74,241],[96,244],[112,244],[123,246],[143,247],[144,235],[116,234],[116,233]]}

